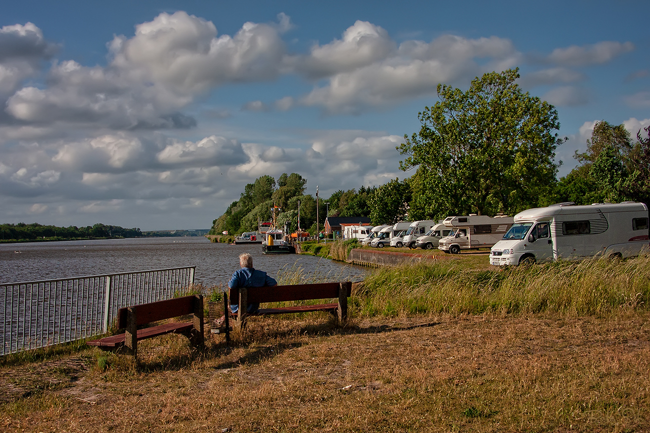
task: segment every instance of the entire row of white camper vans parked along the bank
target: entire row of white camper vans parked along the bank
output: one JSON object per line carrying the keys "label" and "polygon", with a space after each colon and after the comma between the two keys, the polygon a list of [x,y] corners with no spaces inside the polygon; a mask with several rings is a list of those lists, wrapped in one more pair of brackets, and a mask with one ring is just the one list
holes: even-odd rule
{"label": "entire row of white camper vans parked along the bank", "polygon": [[[625,258],[650,247],[648,208],[632,202],[589,206],[558,203],[528,209],[514,217],[470,214],[357,230],[367,232],[362,245],[378,248],[437,248],[449,254],[490,248],[490,264],[496,266],[594,255]],[[361,238],[346,235],[352,237]]]}

